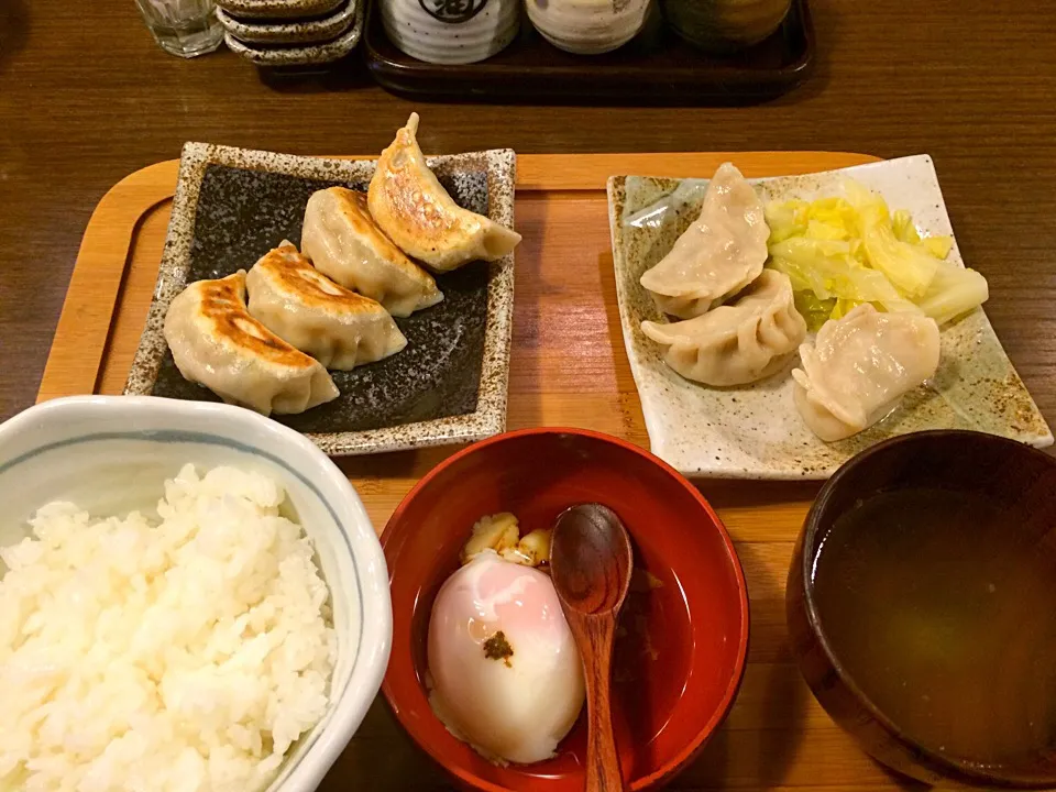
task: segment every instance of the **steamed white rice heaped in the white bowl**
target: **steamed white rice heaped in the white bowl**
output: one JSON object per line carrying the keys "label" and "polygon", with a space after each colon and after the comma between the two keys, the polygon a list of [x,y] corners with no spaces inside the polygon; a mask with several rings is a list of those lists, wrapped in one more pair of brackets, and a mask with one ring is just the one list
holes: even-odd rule
{"label": "steamed white rice heaped in the white bowl", "polygon": [[0,549],[0,789],[253,792],[328,711],[329,591],[285,493],[185,465],[157,519],[51,503]]}

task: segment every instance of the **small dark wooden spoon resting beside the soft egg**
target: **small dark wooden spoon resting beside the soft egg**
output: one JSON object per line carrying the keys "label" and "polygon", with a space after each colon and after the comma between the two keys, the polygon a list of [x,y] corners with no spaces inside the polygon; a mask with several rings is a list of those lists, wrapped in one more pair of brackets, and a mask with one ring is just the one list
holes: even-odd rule
{"label": "small dark wooden spoon resting beside the soft egg", "polygon": [[550,574],[572,629],[586,683],[586,792],[622,792],[609,701],[616,616],[630,587],[630,537],[612,509],[564,512],[550,538]]}

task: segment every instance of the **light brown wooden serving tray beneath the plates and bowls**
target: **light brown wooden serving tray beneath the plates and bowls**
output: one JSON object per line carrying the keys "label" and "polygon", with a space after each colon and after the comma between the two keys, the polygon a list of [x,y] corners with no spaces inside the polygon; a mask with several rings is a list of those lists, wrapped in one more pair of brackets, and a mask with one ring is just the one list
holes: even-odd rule
{"label": "light brown wooden serving tray beneath the plates and bowls", "polygon": [[[509,428],[574,426],[648,446],[616,311],[606,215],[610,174],[707,177],[725,160],[746,176],[845,167],[858,154],[615,154],[518,161]],[[177,162],[123,179],[81,243],[40,399],[119,394],[151,301]],[[339,462],[381,529],[411,485],[452,449]],[[802,682],[789,652],[784,582],[810,483],[701,482],[737,543],[751,598],[749,667],[733,712],[673,790],[917,789],[846,737]],[[449,789],[378,698],[321,790]]]}

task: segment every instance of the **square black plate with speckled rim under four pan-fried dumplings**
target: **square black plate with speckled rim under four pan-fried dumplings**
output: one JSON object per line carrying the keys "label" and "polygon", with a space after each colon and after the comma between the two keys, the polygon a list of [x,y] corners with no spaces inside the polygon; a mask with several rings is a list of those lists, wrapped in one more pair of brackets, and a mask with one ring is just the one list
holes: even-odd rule
{"label": "square black plate with speckled rim under four pan-fried dumplings", "polygon": [[[429,157],[461,206],[513,228],[512,151]],[[125,393],[219,400],[184,380],[162,334],[172,299],[194,280],[249,270],[284,239],[300,240],[308,196],[366,189],[373,161],[322,160],[188,143],[146,328]],[[330,454],[470,442],[506,427],[514,256],[437,277],[444,299],[396,323],[407,348],[351,372],[331,372],[341,395],[274,416]]]}

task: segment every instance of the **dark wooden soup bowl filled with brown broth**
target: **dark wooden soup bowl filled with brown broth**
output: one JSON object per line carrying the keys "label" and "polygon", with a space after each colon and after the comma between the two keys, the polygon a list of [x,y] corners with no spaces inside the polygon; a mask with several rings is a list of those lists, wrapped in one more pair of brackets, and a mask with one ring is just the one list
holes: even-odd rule
{"label": "dark wooden soup bowl filled with brown broth", "polygon": [[[917,432],[822,487],[789,572],[789,632],[818,702],[884,765],[944,787],[1049,789],[1054,591],[1056,460],[980,432]],[[980,695],[986,717],[970,717]]]}

